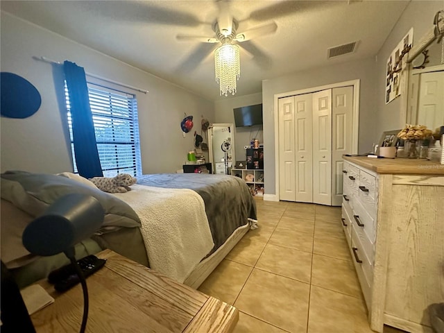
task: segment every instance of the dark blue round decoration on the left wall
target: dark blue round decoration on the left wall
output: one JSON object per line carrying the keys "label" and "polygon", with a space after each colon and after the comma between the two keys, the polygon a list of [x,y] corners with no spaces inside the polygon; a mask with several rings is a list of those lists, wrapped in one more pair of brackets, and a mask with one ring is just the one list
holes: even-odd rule
{"label": "dark blue round decoration on the left wall", "polygon": [[1,116],[8,118],[31,117],[42,104],[40,93],[34,85],[17,74],[3,71],[1,80]]}

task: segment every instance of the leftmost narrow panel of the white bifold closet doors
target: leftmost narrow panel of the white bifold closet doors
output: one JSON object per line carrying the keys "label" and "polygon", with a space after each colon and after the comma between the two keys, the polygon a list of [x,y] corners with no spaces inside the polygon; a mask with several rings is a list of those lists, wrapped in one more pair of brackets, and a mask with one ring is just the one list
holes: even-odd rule
{"label": "leftmost narrow panel of the white bifold closet doors", "polygon": [[279,99],[279,195],[296,200],[294,97]]}

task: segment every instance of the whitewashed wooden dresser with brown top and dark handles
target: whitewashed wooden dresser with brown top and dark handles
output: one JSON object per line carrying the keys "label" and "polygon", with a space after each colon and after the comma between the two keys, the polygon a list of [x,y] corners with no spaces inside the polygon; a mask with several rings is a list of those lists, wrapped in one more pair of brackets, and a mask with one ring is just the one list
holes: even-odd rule
{"label": "whitewashed wooden dresser with brown top and dark handles", "polygon": [[444,165],[343,157],[342,225],[370,327],[432,332],[444,302]]}

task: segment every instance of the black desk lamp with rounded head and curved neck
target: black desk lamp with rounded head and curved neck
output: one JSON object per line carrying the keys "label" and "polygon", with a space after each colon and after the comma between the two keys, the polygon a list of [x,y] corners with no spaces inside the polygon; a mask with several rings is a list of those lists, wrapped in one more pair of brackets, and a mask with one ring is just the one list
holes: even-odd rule
{"label": "black desk lamp with rounded head and curved neck", "polygon": [[23,232],[25,248],[35,255],[65,253],[76,269],[83,289],[83,319],[80,332],[85,332],[88,317],[88,291],[85,277],[75,258],[74,246],[99,230],[105,212],[96,198],[84,194],[68,194],[28,224]]}

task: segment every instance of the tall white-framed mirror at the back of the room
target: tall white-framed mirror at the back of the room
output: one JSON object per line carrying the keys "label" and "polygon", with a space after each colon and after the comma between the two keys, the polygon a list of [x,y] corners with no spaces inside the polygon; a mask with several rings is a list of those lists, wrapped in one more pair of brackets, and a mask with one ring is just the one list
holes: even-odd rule
{"label": "tall white-framed mirror at the back of the room", "polygon": [[229,175],[234,161],[233,124],[213,123],[209,128],[208,146],[213,173]]}

